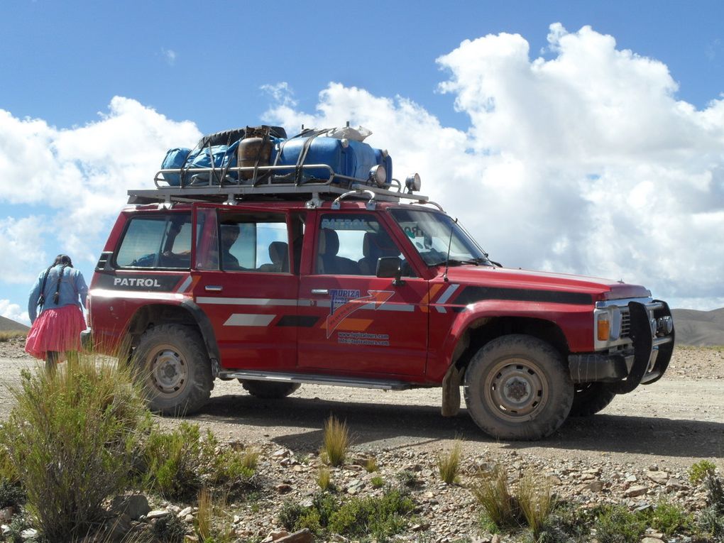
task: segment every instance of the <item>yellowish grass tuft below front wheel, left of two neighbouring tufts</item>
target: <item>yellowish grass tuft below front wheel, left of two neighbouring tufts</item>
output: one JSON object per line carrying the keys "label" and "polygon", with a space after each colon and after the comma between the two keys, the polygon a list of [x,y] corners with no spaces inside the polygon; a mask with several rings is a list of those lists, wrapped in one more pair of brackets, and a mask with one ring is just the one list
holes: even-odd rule
{"label": "yellowish grass tuft below front wheel, left of two neighbouring tufts", "polygon": [[498,529],[518,526],[521,510],[518,502],[510,493],[508,474],[496,465],[491,471],[479,471],[471,483],[470,490],[482,506],[487,518]]}

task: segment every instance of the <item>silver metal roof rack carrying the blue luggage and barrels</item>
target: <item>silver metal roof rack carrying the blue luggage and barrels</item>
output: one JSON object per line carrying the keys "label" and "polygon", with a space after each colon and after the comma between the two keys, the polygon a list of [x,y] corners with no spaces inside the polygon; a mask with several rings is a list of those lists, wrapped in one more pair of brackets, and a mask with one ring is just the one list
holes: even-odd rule
{"label": "silver metal roof rack carrying the blue luggage and barrels", "polygon": [[[303,170],[326,169],[329,178],[298,182],[303,178],[298,172]],[[291,175],[290,175],[291,174]],[[161,185],[177,176],[178,185]],[[248,177],[248,179],[244,179]],[[295,182],[290,182],[290,178]],[[308,208],[321,206],[322,201],[336,197],[333,205],[338,206],[343,198],[361,198],[367,200],[369,209],[376,201],[411,203],[437,203],[429,201],[424,195],[403,192],[399,180],[393,179],[392,188],[380,188],[371,182],[334,172],[329,164],[303,164],[301,166],[258,166],[227,168],[188,168],[161,169],[153,177],[155,189],[128,191],[128,203],[166,203],[212,201],[238,203],[238,201],[268,200],[269,198],[287,200],[306,200]],[[394,186],[396,185],[396,186]]]}

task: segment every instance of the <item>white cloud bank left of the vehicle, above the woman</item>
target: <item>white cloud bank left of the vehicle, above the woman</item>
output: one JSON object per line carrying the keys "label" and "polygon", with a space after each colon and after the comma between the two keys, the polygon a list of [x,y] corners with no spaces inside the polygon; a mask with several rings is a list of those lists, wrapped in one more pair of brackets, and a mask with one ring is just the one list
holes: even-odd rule
{"label": "white cloud bank left of the vehicle, above the woman", "polygon": [[0,203],[23,216],[0,219],[1,254],[13,256],[4,261],[3,282],[32,282],[60,252],[95,262],[126,191],[153,187],[167,149],[193,146],[200,136],[193,122],[128,98],[113,98],[98,115],[59,130],[0,110]]}

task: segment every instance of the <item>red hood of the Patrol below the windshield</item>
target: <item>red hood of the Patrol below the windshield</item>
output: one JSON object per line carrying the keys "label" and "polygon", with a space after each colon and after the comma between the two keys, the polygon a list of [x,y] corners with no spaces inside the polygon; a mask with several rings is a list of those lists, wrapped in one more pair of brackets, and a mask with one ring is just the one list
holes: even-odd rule
{"label": "red hood of the Patrol below the windshield", "polygon": [[[444,271],[444,267],[441,266],[440,274],[442,275]],[[651,292],[641,285],[628,285],[612,279],[547,271],[494,268],[492,266],[451,267],[447,271],[447,279],[463,285],[581,292],[591,295],[594,302],[622,298],[647,298],[651,295]]]}

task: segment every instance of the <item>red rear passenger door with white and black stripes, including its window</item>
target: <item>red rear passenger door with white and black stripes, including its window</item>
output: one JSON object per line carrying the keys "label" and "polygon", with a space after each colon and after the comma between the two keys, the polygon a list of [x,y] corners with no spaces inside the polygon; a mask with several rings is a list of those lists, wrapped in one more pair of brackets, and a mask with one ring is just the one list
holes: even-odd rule
{"label": "red rear passenger door with white and black stripes, including its window", "polygon": [[196,207],[193,292],[224,369],[293,369],[298,266],[292,216],[241,206]]}

